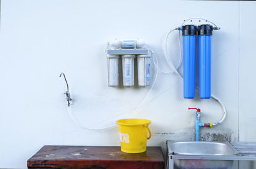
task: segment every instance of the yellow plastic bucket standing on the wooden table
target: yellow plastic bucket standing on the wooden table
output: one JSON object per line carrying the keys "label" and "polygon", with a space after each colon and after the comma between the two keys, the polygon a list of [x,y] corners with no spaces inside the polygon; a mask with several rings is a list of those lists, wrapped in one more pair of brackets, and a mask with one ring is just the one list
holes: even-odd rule
{"label": "yellow plastic bucket standing on the wooden table", "polygon": [[[145,152],[147,140],[151,137],[146,119],[120,119],[116,121],[119,127],[121,151],[127,153]],[[148,135],[149,134],[149,135]]]}

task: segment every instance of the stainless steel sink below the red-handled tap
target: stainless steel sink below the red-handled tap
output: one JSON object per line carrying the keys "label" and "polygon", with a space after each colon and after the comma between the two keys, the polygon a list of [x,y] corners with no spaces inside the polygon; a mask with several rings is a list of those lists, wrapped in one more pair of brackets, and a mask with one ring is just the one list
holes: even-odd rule
{"label": "stainless steel sink below the red-handled tap", "polygon": [[174,159],[177,169],[230,169],[231,160],[204,159],[207,156],[236,156],[229,143],[221,142],[168,142],[168,152],[176,155],[198,156],[200,159]]}

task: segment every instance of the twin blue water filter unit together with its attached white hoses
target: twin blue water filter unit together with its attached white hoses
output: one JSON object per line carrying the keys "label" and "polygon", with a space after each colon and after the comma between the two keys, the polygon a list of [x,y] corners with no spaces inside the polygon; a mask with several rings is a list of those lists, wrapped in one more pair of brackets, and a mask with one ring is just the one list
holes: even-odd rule
{"label": "twin blue water filter unit together with its attached white hoses", "polygon": [[[191,22],[191,23],[196,22],[196,23],[186,24],[188,22]],[[204,22],[204,24],[202,22]],[[209,20],[205,20],[203,18],[189,18],[188,20],[184,20],[184,22],[180,27],[177,27],[175,29],[171,29],[170,31],[168,31],[168,33],[166,33],[166,38],[164,43],[165,58],[170,68],[172,69],[170,73],[175,73],[176,75],[178,75],[178,77],[183,78],[178,71],[180,62],[179,64],[177,64],[177,66],[173,65],[173,62],[168,57],[168,48],[167,48],[168,35],[175,30],[179,30],[182,32],[183,57],[184,57],[184,78],[183,78],[184,79],[184,98],[194,98],[195,89],[199,89],[200,98],[202,99],[212,98],[214,99],[214,101],[217,101],[221,105],[223,112],[222,112],[222,117],[220,121],[207,123],[207,124],[202,123],[204,127],[205,126],[213,127],[218,124],[221,124],[221,122],[225,120],[227,115],[227,110],[223,105],[223,103],[220,101],[220,99],[216,98],[211,94],[211,37],[212,37],[212,31],[219,30],[219,29],[220,27],[216,26],[216,24],[212,23]],[[198,38],[198,45],[196,45],[196,42],[197,42],[196,38]],[[180,45],[180,36],[179,36],[179,45]],[[199,55],[199,74],[200,74],[199,87],[195,86],[196,46],[198,46],[198,55]],[[180,61],[181,60],[182,60],[182,47],[180,45]],[[200,117],[200,115],[198,115],[198,117]]]}

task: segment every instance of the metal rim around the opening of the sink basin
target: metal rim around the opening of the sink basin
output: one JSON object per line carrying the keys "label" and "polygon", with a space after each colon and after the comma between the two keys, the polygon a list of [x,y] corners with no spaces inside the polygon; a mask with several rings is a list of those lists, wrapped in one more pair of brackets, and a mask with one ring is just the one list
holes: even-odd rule
{"label": "metal rim around the opening of the sink basin", "polygon": [[[167,150],[168,151],[168,154],[173,154],[173,155],[179,155],[179,156],[237,156],[239,154],[239,152],[237,152],[237,150],[229,143],[229,142],[207,142],[207,141],[202,141],[202,142],[196,142],[196,141],[171,141],[171,140],[168,140],[166,142],[167,144],[169,144],[169,149]],[[230,147],[230,149],[232,149],[232,151],[234,153],[232,154],[191,154],[191,153],[177,153],[175,151],[173,151],[173,144],[175,143],[220,143],[220,144],[224,144],[224,145],[227,145],[228,147]]]}

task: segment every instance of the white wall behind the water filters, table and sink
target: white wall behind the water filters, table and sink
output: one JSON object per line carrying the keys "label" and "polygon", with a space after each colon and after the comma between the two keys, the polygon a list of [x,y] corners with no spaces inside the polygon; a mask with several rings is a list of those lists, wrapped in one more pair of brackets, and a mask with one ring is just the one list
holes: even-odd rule
{"label": "white wall behind the water filters, table and sink", "polygon": [[[118,128],[88,131],[70,120],[65,82],[58,76],[67,75],[79,122],[109,126],[136,109],[150,87],[108,87],[104,43],[143,38],[167,70],[164,34],[191,17],[221,27],[212,36],[212,93],[228,114],[220,126],[202,129],[202,139],[256,141],[255,8],[254,2],[238,1],[2,0],[0,168],[26,168],[26,160],[43,145],[119,145]],[[169,41],[174,61],[177,38],[173,33]],[[188,107],[200,107],[202,121],[220,119],[216,102],[183,99],[182,85],[175,75],[159,74],[146,104],[132,115],[152,120],[148,145],[165,149],[166,140],[195,139],[195,112]]]}

